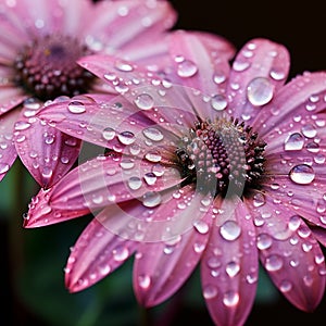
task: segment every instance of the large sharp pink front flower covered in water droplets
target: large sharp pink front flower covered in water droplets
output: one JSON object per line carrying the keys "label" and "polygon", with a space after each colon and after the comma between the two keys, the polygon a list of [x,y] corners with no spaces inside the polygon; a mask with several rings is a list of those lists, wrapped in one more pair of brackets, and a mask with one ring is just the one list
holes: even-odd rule
{"label": "large sharp pink front flower covered in water droplets", "polygon": [[[220,48],[217,51],[216,48]],[[25,227],[92,212],[65,268],[83,290],[135,254],[134,289],[146,306],[174,294],[200,265],[216,325],[243,325],[259,262],[298,309],[325,291],[326,73],[288,83],[285,47],[253,39],[233,65],[226,43],[171,35],[159,74],[112,58],[80,61],[121,96],[90,96],[38,116],[103,148],[29,205]],[[80,126],[80,123],[84,123]],[[86,153],[85,153],[86,154]]]}

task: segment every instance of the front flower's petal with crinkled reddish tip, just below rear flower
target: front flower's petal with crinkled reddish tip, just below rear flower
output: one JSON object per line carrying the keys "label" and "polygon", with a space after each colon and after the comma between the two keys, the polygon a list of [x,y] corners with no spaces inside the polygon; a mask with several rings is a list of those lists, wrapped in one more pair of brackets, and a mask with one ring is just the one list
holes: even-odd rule
{"label": "front flower's petal with crinkled reddish tip, just below rear flower", "polygon": [[[25,227],[52,224],[97,211],[105,205],[138,198],[140,201],[164,199],[160,191],[181,183],[179,172],[164,168],[155,175],[156,163],[121,155],[98,156],[61,178],[41,192],[29,208]],[[46,212],[46,213],[43,213]]]}

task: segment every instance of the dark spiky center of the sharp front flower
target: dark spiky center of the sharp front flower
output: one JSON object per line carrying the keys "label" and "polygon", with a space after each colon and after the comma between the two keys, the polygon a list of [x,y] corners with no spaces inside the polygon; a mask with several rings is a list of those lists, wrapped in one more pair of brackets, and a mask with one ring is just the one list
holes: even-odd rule
{"label": "dark spiky center of the sharp front flower", "polygon": [[259,188],[264,175],[266,143],[238,120],[196,122],[176,150],[184,184],[203,193],[239,195]]}

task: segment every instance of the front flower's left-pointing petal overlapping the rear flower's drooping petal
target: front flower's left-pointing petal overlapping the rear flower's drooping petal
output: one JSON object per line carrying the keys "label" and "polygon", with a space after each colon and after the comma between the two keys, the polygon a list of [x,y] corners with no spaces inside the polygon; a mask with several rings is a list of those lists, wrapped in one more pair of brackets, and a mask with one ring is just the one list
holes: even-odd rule
{"label": "front flower's left-pointing petal overlapping the rear flower's drooping petal", "polygon": [[122,97],[89,95],[48,105],[38,116],[63,133],[102,148],[126,152],[127,146],[143,148],[150,141],[153,149],[176,141],[176,137],[166,130],[174,133],[175,126],[163,122],[159,124],[158,121],[170,111],[170,108],[162,108],[160,111],[142,112]]}

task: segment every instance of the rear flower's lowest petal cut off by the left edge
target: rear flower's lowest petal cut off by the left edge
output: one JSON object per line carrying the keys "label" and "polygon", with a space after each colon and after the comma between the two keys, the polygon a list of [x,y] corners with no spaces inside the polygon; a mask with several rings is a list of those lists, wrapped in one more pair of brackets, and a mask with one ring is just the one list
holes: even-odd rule
{"label": "rear flower's lowest petal cut off by the left edge", "polygon": [[13,142],[13,128],[18,115],[18,110],[12,110],[0,116],[0,180],[3,179],[17,158]]}

